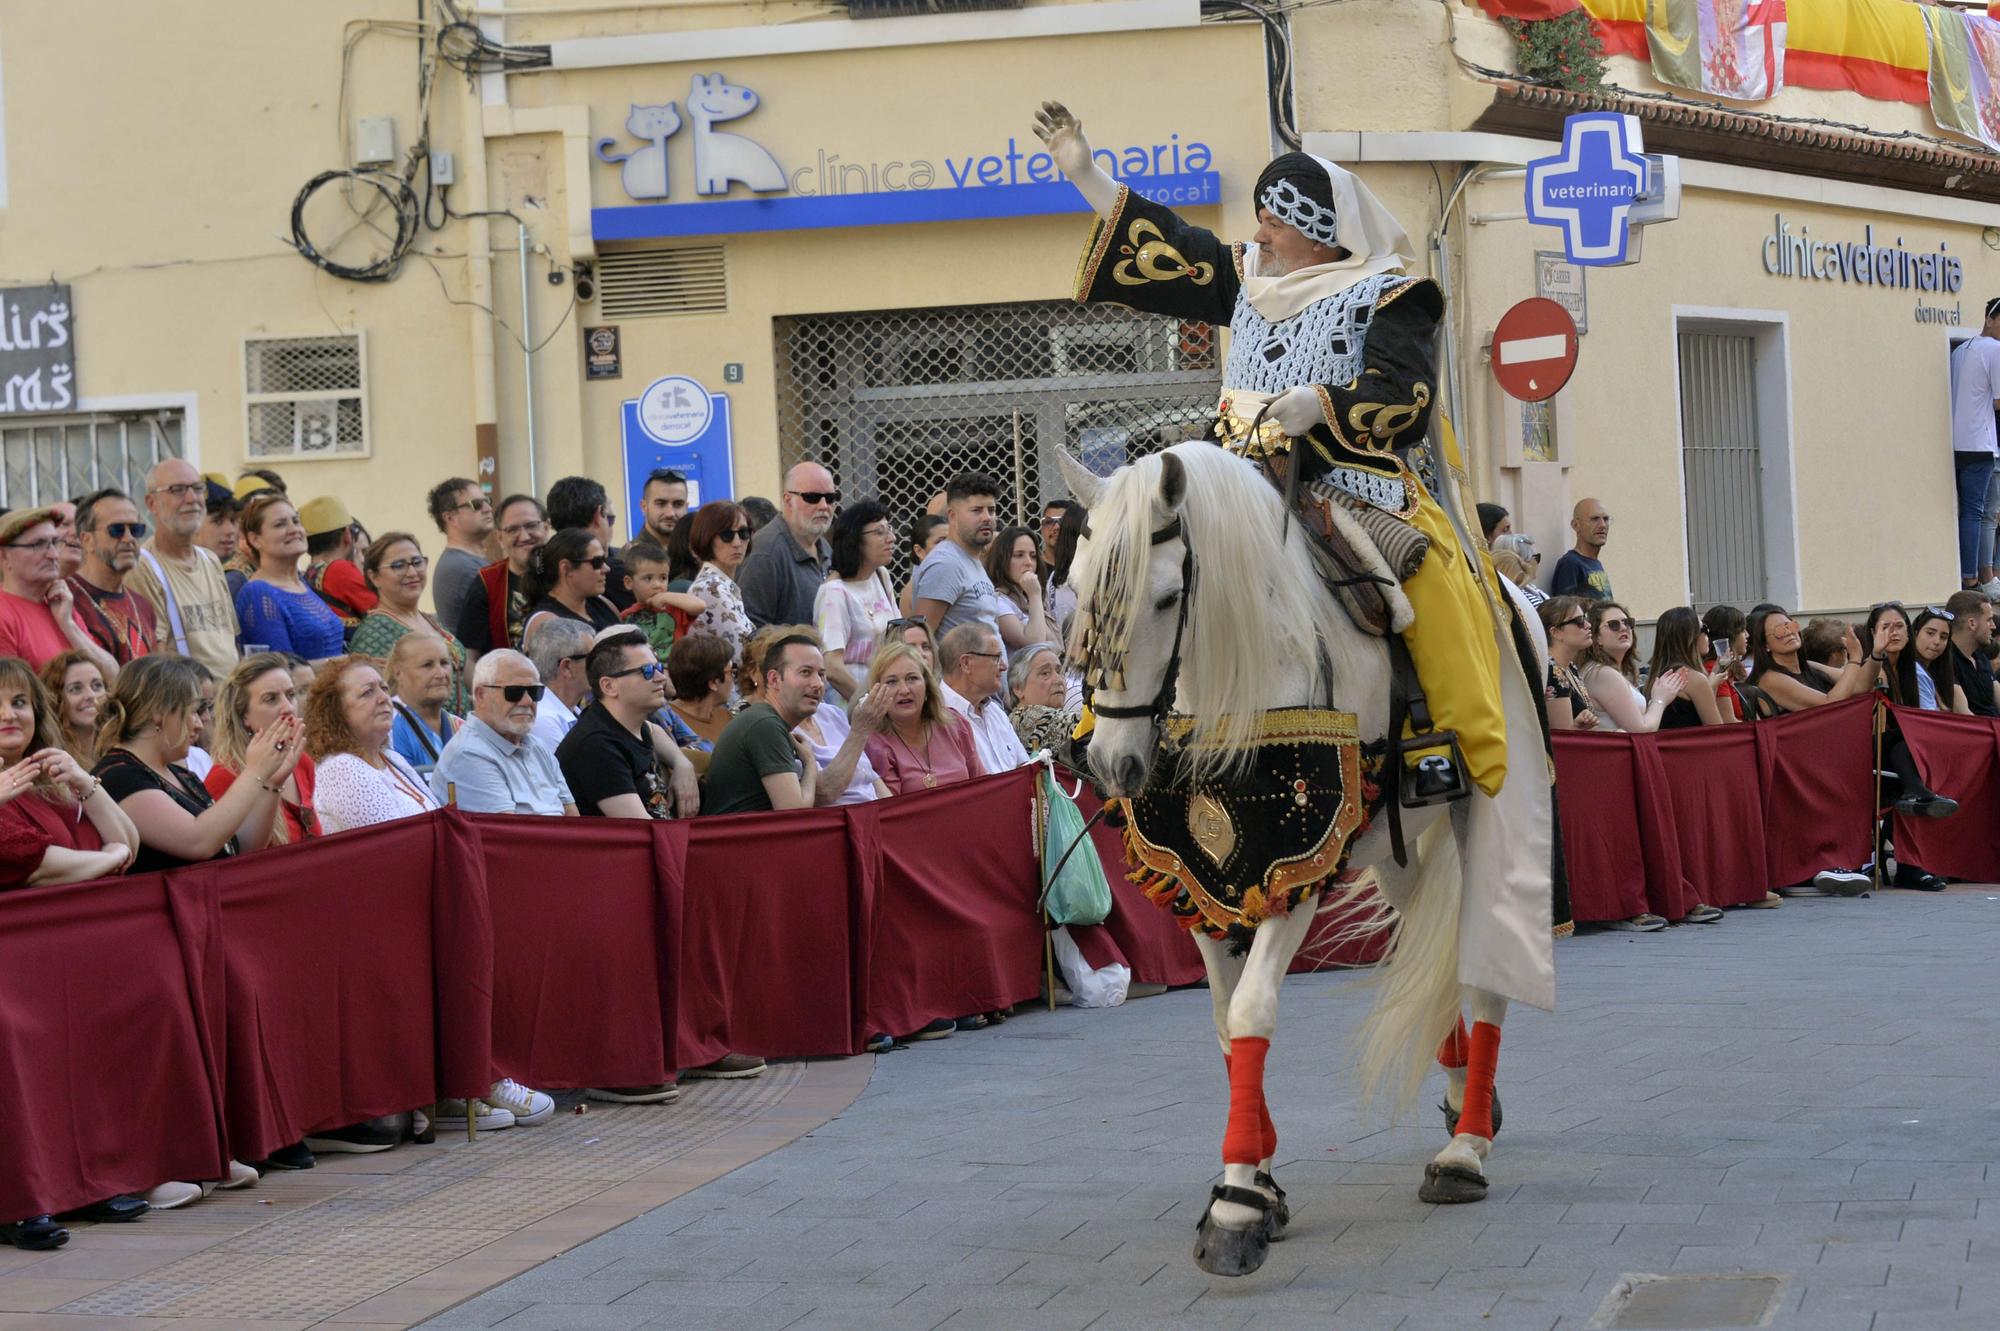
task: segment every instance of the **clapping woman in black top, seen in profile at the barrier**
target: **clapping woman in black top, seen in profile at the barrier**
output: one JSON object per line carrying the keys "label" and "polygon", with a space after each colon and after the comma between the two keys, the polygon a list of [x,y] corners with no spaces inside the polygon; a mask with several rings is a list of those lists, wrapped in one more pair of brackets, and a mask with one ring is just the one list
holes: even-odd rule
{"label": "clapping woman in black top, seen in profile at the barrier", "polygon": [[134,869],[176,869],[270,841],[284,777],[302,753],[296,717],[266,725],[244,751],[248,781],[216,799],[188,771],[208,669],[184,656],[142,656],[118,671],[98,721],[96,775],[138,827]]}

